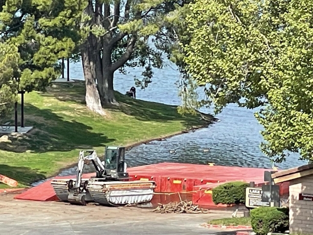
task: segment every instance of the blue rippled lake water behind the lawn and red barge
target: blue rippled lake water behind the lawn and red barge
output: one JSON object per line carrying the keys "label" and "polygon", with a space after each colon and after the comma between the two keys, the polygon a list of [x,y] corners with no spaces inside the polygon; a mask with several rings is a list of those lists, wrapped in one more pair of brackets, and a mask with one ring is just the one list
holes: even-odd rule
{"label": "blue rippled lake water behind the lawn and red barge", "polygon": [[[140,78],[142,70],[130,68],[128,72],[127,75],[118,72],[114,74],[116,91],[121,93],[128,91],[134,86],[134,76]],[[67,74],[66,71],[65,74]],[[83,80],[81,63],[70,64],[70,78]],[[179,105],[180,97],[175,85],[178,79],[179,71],[175,69],[175,66],[155,70],[153,82],[146,90],[137,89],[136,97],[142,100]],[[206,109],[201,111],[210,112]],[[259,148],[263,139],[260,134],[262,126],[254,118],[254,112],[239,108],[237,105],[229,105],[217,116],[221,121],[208,128],[179,135],[167,141],[155,141],[154,144],[134,147],[126,153],[128,165],[176,162],[270,168],[269,159]],[[169,150],[174,148],[177,148],[177,152],[170,154]],[[203,152],[205,148],[210,148],[210,151]],[[286,162],[275,165],[279,169],[286,169],[302,164],[306,162],[299,161],[298,155],[292,154]]]}

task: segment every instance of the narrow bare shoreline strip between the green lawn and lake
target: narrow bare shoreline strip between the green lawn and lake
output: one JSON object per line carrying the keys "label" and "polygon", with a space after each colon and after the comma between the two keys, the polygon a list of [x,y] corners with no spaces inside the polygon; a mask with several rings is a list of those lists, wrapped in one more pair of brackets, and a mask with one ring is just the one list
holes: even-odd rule
{"label": "narrow bare shoreline strip between the green lawn and lake", "polygon": [[[128,151],[128,150],[131,150],[132,148],[134,148],[136,146],[139,146],[141,144],[149,144],[149,142],[152,142],[152,141],[166,141],[166,139],[170,139],[170,138],[172,138],[174,136],[179,136],[179,135],[182,135],[182,134],[188,134],[191,131],[207,128],[211,124],[213,124],[213,123],[206,123],[206,124],[203,124],[203,125],[191,127],[191,130],[182,130],[182,131],[179,131],[179,132],[176,132],[174,134],[167,135],[167,136],[161,136],[161,137],[158,137],[158,138],[153,138],[153,139],[149,139],[149,140],[145,140],[145,141],[139,141],[139,142],[136,142],[136,143],[133,143],[133,144],[125,146],[125,150]],[[45,179],[42,179],[42,180],[47,180],[47,179],[53,178],[53,177],[59,175],[62,171],[67,170],[69,168],[72,168],[72,167],[74,167],[76,165],[77,165],[77,162],[73,163],[73,164],[69,164],[69,165],[67,165],[65,167],[62,167],[62,168],[59,169],[59,171],[56,174],[48,176],[48,177],[46,177]],[[41,181],[41,180],[39,180],[39,181]],[[36,183],[36,182],[38,182],[38,181],[32,182],[31,185]],[[30,186],[30,188],[31,187],[33,187],[33,186]]]}

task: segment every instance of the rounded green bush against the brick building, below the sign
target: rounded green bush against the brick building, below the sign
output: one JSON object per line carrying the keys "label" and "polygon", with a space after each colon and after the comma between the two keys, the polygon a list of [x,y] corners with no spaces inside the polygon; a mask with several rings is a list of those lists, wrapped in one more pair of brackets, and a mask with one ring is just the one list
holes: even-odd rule
{"label": "rounded green bush against the brick building, below the sign", "polygon": [[257,235],[284,233],[289,230],[289,209],[259,207],[250,211],[251,225]]}

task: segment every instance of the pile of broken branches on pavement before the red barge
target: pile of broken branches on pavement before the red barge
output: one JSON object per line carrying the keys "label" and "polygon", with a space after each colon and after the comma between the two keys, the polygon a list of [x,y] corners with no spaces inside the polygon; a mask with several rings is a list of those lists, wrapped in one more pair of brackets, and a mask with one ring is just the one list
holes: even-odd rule
{"label": "pile of broken branches on pavement before the red barge", "polygon": [[158,207],[153,212],[158,213],[207,213],[208,210],[199,209],[199,206],[192,205],[192,201],[170,202],[168,204],[158,203]]}

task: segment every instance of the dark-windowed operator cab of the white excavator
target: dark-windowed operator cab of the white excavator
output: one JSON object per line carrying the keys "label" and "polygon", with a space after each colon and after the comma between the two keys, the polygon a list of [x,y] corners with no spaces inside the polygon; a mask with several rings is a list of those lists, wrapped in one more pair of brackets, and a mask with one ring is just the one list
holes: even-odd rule
{"label": "dark-windowed operator cab of the white excavator", "polygon": [[108,146],[105,148],[104,167],[106,178],[123,179],[129,178],[126,172],[125,147]]}

